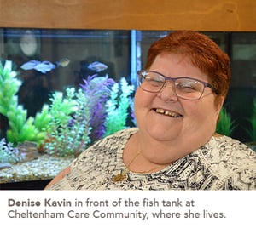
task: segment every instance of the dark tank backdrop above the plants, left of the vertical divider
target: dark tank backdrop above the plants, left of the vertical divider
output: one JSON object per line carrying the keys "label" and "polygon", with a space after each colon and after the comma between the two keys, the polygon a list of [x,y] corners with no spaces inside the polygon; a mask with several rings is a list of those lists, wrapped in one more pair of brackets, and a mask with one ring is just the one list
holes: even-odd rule
{"label": "dark tank backdrop above the plants, left of the vertical divider", "polygon": [[[88,76],[108,73],[116,80],[130,77],[130,31],[2,29],[1,32],[1,59],[13,61],[15,71],[19,72],[23,82],[19,100],[29,115],[35,115],[53,90],[78,87]],[[65,59],[69,60],[67,66]],[[64,66],[55,66],[45,73],[20,68],[30,60],[54,65],[64,60]],[[94,62],[106,65],[107,69],[89,68]]]}

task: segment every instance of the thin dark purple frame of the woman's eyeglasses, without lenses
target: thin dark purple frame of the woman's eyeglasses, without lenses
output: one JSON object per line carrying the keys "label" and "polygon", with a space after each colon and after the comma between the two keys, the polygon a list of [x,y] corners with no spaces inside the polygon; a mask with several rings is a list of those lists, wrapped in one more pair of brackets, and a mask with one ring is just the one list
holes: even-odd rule
{"label": "thin dark purple frame of the woman's eyeglasses, without lenses", "polygon": [[[158,71],[152,71],[152,70],[139,70],[139,71],[137,71],[137,75],[138,75],[139,77],[143,77],[143,75],[142,75],[143,72],[153,72],[153,73],[158,74],[158,75],[160,75],[161,77],[164,77],[164,78],[165,78],[165,82],[163,83],[162,87],[161,87],[158,91],[148,91],[148,90],[144,89],[144,88],[142,87],[142,83],[140,82],[141,79],[139,78],[139,87],[142,88],[144,91],[149,92],[149,93],[159,93],[159,92],[161,91],[161,89],[165,87],[166,81],[169,81],[169,80],[170,80],[170,81],[172,81],[173,83],[175,83],[175,81],[177,81],[178,79],[184,79],[184,78],[185,78],[185,79],[190,79],[190,80],[196,81],[196,82],[198,82],[198,83],[202,83],[202,84],[204,85],[204,88],[203,88],[203,90],[201,91],[200,97],[199,97],[198,99],[192,99],[192,100],[200,100],[202,94],[203,94],[204,91],[205,91],[205,88],[207,88],[207,87],[208,87],[208,88],[211,88],[212,91],[213,91],[215,94],[218,94],[216,88],[214,88],[214,87],[212,86],[212,84],[207,83],[207,82],[204,82],[204,81],[201,81],[201,80],[196,79],[196,78],[192,78],[192,77],[175,77],[175,78],[174,78],[174,77],[166,77],[165,75],[161,74],[160,72],[158,72]],[[176,91],[175,91],[175,92],[176,92]],[[178,95],[177,95],[177,96],[178,96]],[[190,99],[186,99],[186,98],[183,98],[183,97],[180,97],[180,96],[178,96],[178,97],[181,98],[181,99],[190,100]]]}

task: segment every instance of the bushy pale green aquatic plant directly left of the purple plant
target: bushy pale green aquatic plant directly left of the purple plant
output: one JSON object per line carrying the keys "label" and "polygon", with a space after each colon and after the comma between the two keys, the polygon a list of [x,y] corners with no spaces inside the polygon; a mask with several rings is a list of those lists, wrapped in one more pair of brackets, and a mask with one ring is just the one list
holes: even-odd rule
{"label": "bushy pale green aquatic plant directly left of the purple plant", "polygon": [[66,89],[66,97],[55,92],[50,98],[50,120],[46,128],[44,151],[50,156],[76,157],[90,143],[88,98],[81,88]]}

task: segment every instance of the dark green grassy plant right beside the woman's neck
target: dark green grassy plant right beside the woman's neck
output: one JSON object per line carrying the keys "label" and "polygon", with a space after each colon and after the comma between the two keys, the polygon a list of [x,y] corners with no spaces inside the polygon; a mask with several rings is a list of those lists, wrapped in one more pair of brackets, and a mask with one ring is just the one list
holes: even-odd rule
{"label": "dark green grassy plant right beside the woman's neck", "polygon": [[224,134],[226,136],[231,136],[234,128],[236,127],[235,122],[232,121],[230,114],[226,110],[226,107],[223,106],[219,113],[219,120],[217,123],[216,132],[218,134]]}

